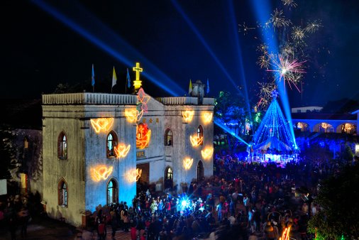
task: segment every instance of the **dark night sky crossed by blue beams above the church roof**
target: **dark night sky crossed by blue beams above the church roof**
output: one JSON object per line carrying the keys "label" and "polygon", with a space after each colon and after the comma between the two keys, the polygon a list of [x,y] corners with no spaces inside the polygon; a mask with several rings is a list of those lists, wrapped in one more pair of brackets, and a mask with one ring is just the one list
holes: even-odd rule
{"label": "dark night sky crossed by blue beams above the church roof", "polygon": [[[95,92],[111,91],[115,67],[114,92],[124,93],[126,68],[140,62],[153,96],[183,96],[190,79],[208,78],[210,97],[246,86],[256,102],[257,82],[267,76],[256,64],[261,34],[238,32],[238,24],[258,24],[253,1],[1,1],[1,98],[38,98],[60,83],[92,91],[92,64]],[[323,27],[306,39],[302,92],[288,89],[289,104],[359,100],[359,1],[296,2],[288,9],[270,1],[270,11],[284,9],[296,25],[320,19]]]}

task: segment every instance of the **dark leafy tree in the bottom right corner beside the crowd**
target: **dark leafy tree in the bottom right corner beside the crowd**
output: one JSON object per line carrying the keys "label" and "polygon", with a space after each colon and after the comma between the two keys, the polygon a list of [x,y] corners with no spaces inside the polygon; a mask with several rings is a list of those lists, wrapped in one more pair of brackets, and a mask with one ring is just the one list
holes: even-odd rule
{"label": "dark leafy tree in the bottom right corner beside the crowd", "polygon": [[359,164],[347,165],[338,174],[321,182],[318,203],[322,210],[309,220],[309,231],[318,239],[359,237]]}

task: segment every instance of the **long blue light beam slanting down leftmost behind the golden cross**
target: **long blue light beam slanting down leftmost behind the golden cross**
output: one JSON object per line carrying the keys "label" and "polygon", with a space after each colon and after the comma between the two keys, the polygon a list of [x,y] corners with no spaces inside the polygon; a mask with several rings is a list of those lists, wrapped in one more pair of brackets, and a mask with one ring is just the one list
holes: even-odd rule
{"label": "long blue light beam slanting down leftmost behind the golden cross", "polygon": [[[38,0],[32,2],[43,11],[49,13],[50,16],[55,17],[61,23],[65,24],[65,26],[89,40],[101,50],[104,50],[112,57],[123,62],[123,64],[132,66],[134,62],[141,60],[146,67],[146,71],[143,72],[143,75],[158,87],[165,90],[165,92],[168,92],[172,96],[183,96],[186,92],[175,81],[165,75],[164,72],[159,70],[158,67],[153,65],[150,60],[139,53],[138,50],[126,43],[126,41],[112,31],[111,28],[107,27],[104,23],[101,23],[98,18],[94,17],[92,13],[82,6],[76,5],[76,8],[74,9],[64,7],[69,15],[66,16],[64,13],[55,9],[55,7],[45,3],[45,1]],[[128,56],[131,56],[131,59]],[[167,82],[168,84],[162,84],[158,79]]]}

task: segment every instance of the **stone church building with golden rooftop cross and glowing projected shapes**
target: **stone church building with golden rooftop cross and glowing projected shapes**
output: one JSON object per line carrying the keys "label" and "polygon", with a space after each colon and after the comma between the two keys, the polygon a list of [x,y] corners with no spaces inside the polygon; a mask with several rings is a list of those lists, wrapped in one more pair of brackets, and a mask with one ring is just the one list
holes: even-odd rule
{"label": "stone church building with golden rooftop cross and glowing projected shapes", "polygon": [[[86,211],[127,202],[136,183],[156,190],[213,175],[214,99],[200,81],[189,97],[43,94],[43,200],[53,218],[79,226]],[[136,82],[139,81],[139,82]]]}

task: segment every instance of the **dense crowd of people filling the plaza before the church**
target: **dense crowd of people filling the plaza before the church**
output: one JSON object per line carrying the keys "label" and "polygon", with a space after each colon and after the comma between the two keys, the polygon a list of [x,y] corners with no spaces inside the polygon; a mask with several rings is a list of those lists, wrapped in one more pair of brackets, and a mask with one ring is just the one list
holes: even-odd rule
{"label": "dense crowd of people filling the plaza before the church", "polygon": [[[108,228],[113,238],[116,231],[129,231],[133,240],[279,239],[287,227],[308,239],[308,219],[320,211],[312,203],[319,180],[339,169],[338,162],[328,160],[302,159],[280,168],[248,163],[236,154],[216,154],[213,177],[180,190],[148,189],[130,204],[99,205],[88,227],[99,239],[106,239]],[[9,224],[13,239],[18,227],[26,236],[30,218],[26,198],[9,197],[0,206],[0,221]]]}

